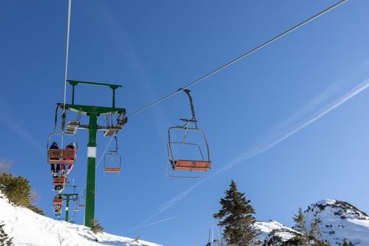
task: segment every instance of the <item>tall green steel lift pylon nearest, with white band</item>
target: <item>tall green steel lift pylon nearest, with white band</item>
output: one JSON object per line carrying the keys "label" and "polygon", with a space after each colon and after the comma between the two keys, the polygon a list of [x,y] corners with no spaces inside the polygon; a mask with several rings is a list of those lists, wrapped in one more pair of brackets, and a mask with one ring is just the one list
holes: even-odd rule
{"label": "tall green steel lift pylon nearest, with white band", "polygon": [[[120,129],[122,125],[127,122],[125,108],[115,108],[115,90],[122,87],[116,84],[103,84],[94,82],[80,82],[75,80],[67,80],[72,85],[72,104],[58,103],[60,108],[65,107],[65,110],[77,112],[81,115],[89,116],[89,124],[78,124],[75,128],[86,129],[89,131],[89,143],[87,144],[87,179],[86,179],[86,207],[84,212],[84,225],[92,226],[91,220],[95,219],[95,188],[96,188],[96,138],[97,131],[105,131],[104,136],[113,136]],[[77,84],[89,84],[93,86],[106,86],[112,89],[112,108],[100,107],[93,105],[75,105],[75,86]],[[117,117],[117,124],[113,124],[107,127],[98,126],[98,117],[103,115],[119,114]],[[63,125],[63,123],[62,123]],[[62,127],[63,129],[63,127]],[[63,129],[64,130],[64,129]],[[67,218],[65,218],[67,219]]]}

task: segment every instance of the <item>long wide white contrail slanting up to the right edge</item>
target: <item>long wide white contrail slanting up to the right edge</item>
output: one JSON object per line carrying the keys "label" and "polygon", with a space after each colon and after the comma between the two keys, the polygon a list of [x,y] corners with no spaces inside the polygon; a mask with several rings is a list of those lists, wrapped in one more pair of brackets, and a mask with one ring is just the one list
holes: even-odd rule
{"label": "long wide white contrail slanting up to the right edge", "polygon": [[305,127],[309,126],[309,124],[312,124],[313,122],[316,122],[318,119],[320,119],[324,115],[328,114],[328,112],[331,112],[332,110],[335,110],[336,108],[338,108],[343,103],[346,103],[347,101],[349,101],[354,96],[357,96],[358,93],[361,93],[365,89],[368,89],[368,87],[369,87],[369,79],[366,79],[364,82],[362,82],[361,84],[356,86],[354,89],[349,91],[349,93],[346,93],[341,98],[339,98],[336,101],[328,104],[324,108],[321,108],[321,110],[318,110],[316,113],[313,114],[313,117],[311,119],[307,120],[306,122],[304,122],[302,124],[299,124],[297,127],[294,128],[294,130],[289,131],[287,134],[282,134],[282,133],[277,134],[277,136],[280,136],[280,135],[282,135],[282,136],[280,136],[280,138],[278,138],[275,141],[273,141],[273,139],[275,137],[268,138],[263,144],[258,145],[256,148],[253,148],[252,150],[248,151],[247,153],[241,155],[240,157],[235,158],[233,161],[226,164],[226,166],[224,166],[221,169],[215,171],[212,175],[207,176],[207,178],[202,179],[200,182],[198,182],[195,185],[191,186],[190,188],[183,191],[179,195],[176,195],[174,198],[171,198],[171,200],[169,200],[169,201],[165,202],[163,205],[161,205],[158,208],[157,212],[155,212],[155,214],[153,214],[148,219],[146,219],[142,224],[145,224],[147,221],[150,221],[151,219],[153,219],[158,214],[161,214],[165,210],[169,209],[169,207],[175,205],[177,202],[179,202],[183,198],[186,198],[186,196],[189,193],[191,193],[195,188],[200,186],[205,181],[208,181],[209,179],[212,179],[214,176],[220,174],[221,172],[230,169],[231,167],[235,166],[235,164],[239,164],[240,162],[243,162],[245,160],[249,160],[252,157],[255,157],[257,155],[261,155],[262,153],[266,152],[267,150],[269,150],[269,149],[273,148],[274,146],[278,145],[279,143],[285,141],[287,138],[289,138],[293,134],[296,134],[298,131],[301,131]]}

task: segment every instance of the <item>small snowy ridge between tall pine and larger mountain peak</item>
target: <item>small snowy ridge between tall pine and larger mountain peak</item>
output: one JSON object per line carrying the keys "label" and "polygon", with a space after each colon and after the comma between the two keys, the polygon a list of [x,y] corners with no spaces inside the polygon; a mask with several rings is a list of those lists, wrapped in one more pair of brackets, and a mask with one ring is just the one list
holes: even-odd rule
{"label": "small snowy ridge between tall pine and larger mountain peak", "polygon": [[290,238],[293,238],[294,235],[298,234],[297,231],[280,224],[278,221],[257,221],[255,227],[261,233],[257,237],[257,240],[261,242],[261,245],[263,242],[270,240],[272,235],[277,235],[281,238],[281,240],[283,240],[283,242],[285,242]]}

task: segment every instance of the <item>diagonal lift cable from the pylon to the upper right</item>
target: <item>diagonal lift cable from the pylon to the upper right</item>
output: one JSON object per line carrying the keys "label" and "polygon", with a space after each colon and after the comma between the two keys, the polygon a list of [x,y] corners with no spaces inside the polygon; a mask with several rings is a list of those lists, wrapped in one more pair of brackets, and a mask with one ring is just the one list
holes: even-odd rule
{"label": "diagonal lift cable from the pylon to the upper right", "polygon": [[224,68],[228,67],[229,65],[232,65],[233,63],[238,62],[238,60],[241,60],[242,58],[245,58],[246,56],[249,56],[250,54],[254,53],[255,51],[258,51],[260,48],[264,48],[268,44],[273,43],[273,41],[276,41],[277,39],[280,39],[281,37],[289,34],[290,32],[293,32],[294,30],[297,30],[299,27],[302,27],[303,25],[307,24],[308,22],[311,22],[312,20],[320,17],[321,15],[324,15],[325,13],[328,13],[332,9],[337,8],[338,6],[340,6],[341,4],[344,4],[347,1],[349,1],[349,0],[342,0],[342,1],[337,2],[337,4],[334,4],[334,5],[330,6],[329,8],[326,8],[324,11],[321,11],[320,13],[317,13],[316,15],[313,15],[311,18],[309,18],[307,20],[304,20],[303,22],[299,23],[298,25],[295,25],[294,27],[290,28],[289,30],[287,30],[287,31],[279,34],[278,36],[273,37],[272,39],[269,39],[264,44],[261,44],[261,45],[255,47],[255,48],[252,48],[252,50],[247,51],[247,53],[244,53],[242,56],[239,56],[238,58],[235,58],[234,60],[231,60],[230,62],[222,65],[221,67],[216,68],[216,70],[213,70],[212,72],[209,72],[207,75],[205,75],[203,77],[200,77],[200,79],[197,79],[194,82],[192,82],[192,83],[190,83],[190,84],[188,84],[186,86],[183,86],[178,91],[174,91],[174,92],[170,93],[168,96],[164,96],[163,98],[160,98],[159,100],[157,100],[157,101],[155,101],[153,103],[150,103],[149,105],[147,105],[147,106],[145,106],[145,107],[143,107],[143,108],[141,108],[139,110],[136,110],[135,112],[127,115],[127,117],[132,117],[132,116],[138,114],[139,112],[142,112],[143,110],[147,110],[148,108],[153,107],[157,103],[161,103],[162,101],[167,100],[168,98],[171,98],[172,96],[174,96],[177,93],[183,91],[184,89],[188,89],[190,86],[193,86],[195,84],[198,84],[199,82],[201,82],[202,80],[206,79],[207,77],[210,77],[210,76],[214,75],[216,72],[219,72],[221,70],[224,70]]}

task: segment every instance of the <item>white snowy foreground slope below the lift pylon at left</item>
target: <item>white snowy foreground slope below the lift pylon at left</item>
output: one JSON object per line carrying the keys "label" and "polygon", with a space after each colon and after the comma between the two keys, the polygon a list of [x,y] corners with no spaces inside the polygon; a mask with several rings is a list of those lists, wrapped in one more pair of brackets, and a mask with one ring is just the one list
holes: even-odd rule
{"label": "white snowy foreground slope below the lift pylon at left", "polygon": [[[41,216],[23,207],[14,207],[0,193],[0,223],[4,231],[13,237],[14,245],[53,246],[53,245],[119,245],[119,246],[160,246],[152,242],[124,238],[108,233],[95,235],[86,226],[56,221]],[[63,241],[60,243],[60,241]]]}

